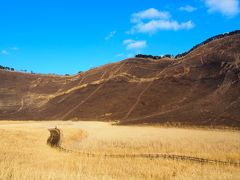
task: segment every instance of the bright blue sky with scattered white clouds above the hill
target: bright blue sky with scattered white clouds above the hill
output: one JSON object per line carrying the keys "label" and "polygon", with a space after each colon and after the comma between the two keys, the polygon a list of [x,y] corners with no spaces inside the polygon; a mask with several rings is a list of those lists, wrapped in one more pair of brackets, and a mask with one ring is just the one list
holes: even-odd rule
{"label": "bright blue sky with scattered white clouds above the hill", "polygon": [[178,54],[240,29],[239,0],[8,0],[0,65],[75,74],[137,53]]}

